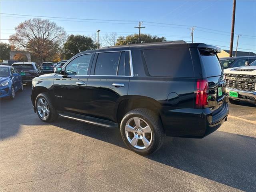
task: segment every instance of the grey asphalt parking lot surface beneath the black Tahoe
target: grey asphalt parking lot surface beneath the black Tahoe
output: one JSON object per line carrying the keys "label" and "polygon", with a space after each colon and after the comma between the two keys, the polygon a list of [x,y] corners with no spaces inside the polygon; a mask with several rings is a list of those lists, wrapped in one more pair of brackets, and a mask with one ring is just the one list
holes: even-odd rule
{"label": "grey asphalt parking lot surface beneath the black Tahoe", "polygon": [[203,139],[167,137],[139,156],[118,129],[64,118],[44,123],[31,86],[0,101],[0,191],[256,191],[256,107],[230,104]]}

